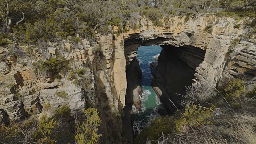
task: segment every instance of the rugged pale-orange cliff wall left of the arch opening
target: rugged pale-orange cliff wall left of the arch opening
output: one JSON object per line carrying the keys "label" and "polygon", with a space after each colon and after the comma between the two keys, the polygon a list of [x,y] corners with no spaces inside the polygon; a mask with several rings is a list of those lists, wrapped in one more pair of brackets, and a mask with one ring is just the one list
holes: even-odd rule
{"label": "rugged pale-orange cliff wall left of the arch opening", "polygon": [[[120,114],[123,108],[120,97],[124,97],[119,95],[125,95],[126,75],[123,82],[115,82],[114,75],[118,76],[115,74],[118,72],[113,69],[125,71],[125,59],[124,56],[124,60],[113,56],[112,34],[101,36],[98,43],[91,46],[86,40],[78,44],[63,40],[59,43],[48,43],[49,47],[42,49],[43,52],[34,48],[35,57],[32,58],[17,59],[10,55],[4,59],[0,73],[0,122],[8,124],[11,120],[24,120],[32,110],[36,110],[38,116],[46,113],[51,116],[56,108],[64,105],[70,107],[72,115],[79,116],[83,114],[84,108],[92,106],[100,112],[102,142],[112,143],[119,140],[122,132]],[[109,50],[109,57],[104,55],[104,46]],[[26,50],[28,46],[20,48]],[[1,48],[0,51],[1,56],[10,53],[8,48]],[[65,63],[70,66],[70,71],[75,73],[78,69],[84,69],[82,77],[88,80],[87,90],[74,84],[74,79],[69,79],[69,72],[61,75],[59,80],[52,80],[44,72],[35,72],[33,62],[60,55],[66,59]],[[113,58],[108,61],[110,57]],[[116,83],[118,84],[115,85]],[[66,96],[58,96],[56,92],[60,91],[64,91]],[[44,108],[47,102],[51,105],[48,110]]]}

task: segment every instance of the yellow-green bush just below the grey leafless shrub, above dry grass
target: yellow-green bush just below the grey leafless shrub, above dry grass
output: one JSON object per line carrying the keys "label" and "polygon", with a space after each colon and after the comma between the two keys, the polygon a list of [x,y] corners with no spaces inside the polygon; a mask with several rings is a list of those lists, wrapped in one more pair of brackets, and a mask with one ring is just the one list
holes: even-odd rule
{"label": "yellow-green bush just below the grey leafless shrub, above dry grass", "polygon": [[182,116],[174,120],[176,131],[181,133],[188,131],[190,128],[213,124],[211,111],[212,108],[208,109],[202,108],[200,105],[188,104]]}

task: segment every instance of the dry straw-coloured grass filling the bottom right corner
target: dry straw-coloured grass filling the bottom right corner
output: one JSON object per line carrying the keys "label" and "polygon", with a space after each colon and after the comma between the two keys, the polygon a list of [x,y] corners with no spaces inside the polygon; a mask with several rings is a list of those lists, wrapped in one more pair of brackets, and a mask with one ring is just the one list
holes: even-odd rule
{"label": "dry straw-coloured grass filling the bottom right corner", "polygon": [[161,136],[147,144],[256,144],[256,114],[222,115],[216,126],[205,126],[174,138]]}

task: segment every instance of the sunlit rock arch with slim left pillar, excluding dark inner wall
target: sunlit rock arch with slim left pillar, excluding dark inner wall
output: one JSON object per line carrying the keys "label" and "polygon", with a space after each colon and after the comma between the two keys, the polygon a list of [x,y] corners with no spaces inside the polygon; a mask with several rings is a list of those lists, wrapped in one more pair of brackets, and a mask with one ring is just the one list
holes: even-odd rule
{"label": "sunlit rock arch with slim left pillar, excluding dark inner wall", "polygon": [[[243,23],[243,21],[241,20],[239,23]],[[170,20],[169,28],[152,26],[152,23],[143,19],[141,23],[142,28],[140,29],[129,30],[125,34],[114,36],[113,71],[116,78],[115,85],[120,90],[119,96],[123,105],[125,105],[124,89],[126,89],[124,57],[127,68],[137,56],[139,46],[161,45],[164,50],[167,50],[168,47],[180,47],[180,50],[176,48],[176,51],[180,53],[180,58],[196,72],[193,78],[194,84],[211,81],[216,86],[223,78],[233,78],[240,74],[250,77],[255,74],[255,45],[253,42],[245,42],[247,47],[245,44],[236,46],[235,51],[240,51],[246,47],[239,52],[239,56],[232,55],[231,58],[228,53],[232,40],[244,32],[243,28],[236,29],[233,27],[233,18],[195,16],[188,22],[184,22],[184,18],[175,17]],[[122,46],[123,42],[124,46]],[[185,54],[182,52],[184,50],[189,53]],[[250,60],[248,58],[250,56],[254,60]],[[232,64],[230,64],[230,59],[232,59]],[[244,61],[238,62],[239,59],[244,59]]]}

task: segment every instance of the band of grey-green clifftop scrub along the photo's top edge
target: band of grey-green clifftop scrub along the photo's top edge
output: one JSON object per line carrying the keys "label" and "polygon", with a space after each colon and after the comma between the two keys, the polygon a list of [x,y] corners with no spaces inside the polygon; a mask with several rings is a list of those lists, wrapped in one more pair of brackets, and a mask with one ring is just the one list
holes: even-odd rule
{"label": "band of grey-green clifftop scrub along the photo's top edge", "polygon": [[111,32],[109,25],[118,26],[119,32],[126,26],[140,28],[141,16],[155,26],[163,26],[165,17],[186,15],[187,22],[193,13],[214,14],[220,7],[224,10],[217,16],[255,16],[254,0],[0,0],[0,5],[1,46],[57,39],[78,43],[78,35],[94,42],[97,32]]}

